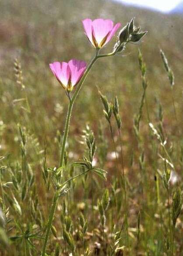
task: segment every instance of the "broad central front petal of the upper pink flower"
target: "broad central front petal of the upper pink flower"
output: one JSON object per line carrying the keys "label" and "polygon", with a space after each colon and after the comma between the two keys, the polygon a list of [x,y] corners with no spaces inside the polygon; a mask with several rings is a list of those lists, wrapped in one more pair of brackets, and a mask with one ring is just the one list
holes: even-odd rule
{"label": "broad central front petal of the upper pink flower", "polygon": [[96,19],[92,22],[92,28],[93,28],[93,36],[95,37],[95,40],[98,43],[98,45],[100,45],[102,40],[113,29],[113,21]]}

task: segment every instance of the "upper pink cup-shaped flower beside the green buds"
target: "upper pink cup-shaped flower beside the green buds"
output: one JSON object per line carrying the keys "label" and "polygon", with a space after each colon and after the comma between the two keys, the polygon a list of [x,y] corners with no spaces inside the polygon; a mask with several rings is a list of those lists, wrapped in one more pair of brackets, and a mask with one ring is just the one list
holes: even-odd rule
{"label": "upper pink cup-shaped flower beside the green buds", "polygon": [[121,23],[117,23],[114,26],[113,21],[103,19],[96,19],[94,21],[85,19],[82,22],[85,34],[95,48],[102,48],[102,46],[106,45],[121,25]]}

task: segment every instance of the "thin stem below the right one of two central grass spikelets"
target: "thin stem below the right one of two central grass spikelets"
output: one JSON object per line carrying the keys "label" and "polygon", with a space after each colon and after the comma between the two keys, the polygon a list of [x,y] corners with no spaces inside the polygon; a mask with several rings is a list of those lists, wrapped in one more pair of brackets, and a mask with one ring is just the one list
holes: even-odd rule
{"label": "thin stem below the right one of two central grass spikelets", "polygon": [[122,139],[121,139],[121,131],[118,129],[119,137],[120,137],[120,149],[121,149],[121,164],[122,164],[122,172],[123,172],[123,186],[124,186],[124,197],[125,197],[125,222],[127,227],[127,247],[128,251],[130,251],[129,246],[129,235],[128,235],[128,204],[127,204],[127,190],[126,190],[126,182],[125,182],[125,175],[124,175],[124,160],[123,160],[123,146],[122,146]]}

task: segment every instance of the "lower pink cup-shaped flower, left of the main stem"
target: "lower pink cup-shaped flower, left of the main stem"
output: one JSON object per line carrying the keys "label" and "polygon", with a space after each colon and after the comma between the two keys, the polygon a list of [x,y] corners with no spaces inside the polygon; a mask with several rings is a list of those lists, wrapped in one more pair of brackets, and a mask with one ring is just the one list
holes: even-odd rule
{"label": "lower pink cup-shaped flower, left of the main stem", "polygon": [[86,70],[86,62],[82,60],[70,60],[67,62],[53,62],[49,64],[56,79],[67,91],[72,91],[80,81]]}

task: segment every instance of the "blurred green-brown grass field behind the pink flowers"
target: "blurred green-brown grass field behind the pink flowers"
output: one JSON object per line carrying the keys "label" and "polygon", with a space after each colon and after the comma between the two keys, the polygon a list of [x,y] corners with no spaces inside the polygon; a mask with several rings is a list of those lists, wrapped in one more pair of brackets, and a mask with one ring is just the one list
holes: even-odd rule
{"label": "blurred green-brown grass field behind the pink flowers", "polygon": [[[69,101],[49,63],[90,63],[95,49],[84,18],[123,27],[133,17],[148,33],[96,61],[74,103],[59,169]],[[0,1],[0,255],[42,254],[60,174],[67,186],[45,255],[183,255],[182,24],[181,16],[104,0]],[[99,90],[114,105],[117,96],[120,129],[114,114],[106,120]],[[88,169],[78,164],[91,140],[92,164],[106,174],[83,174]]]}

